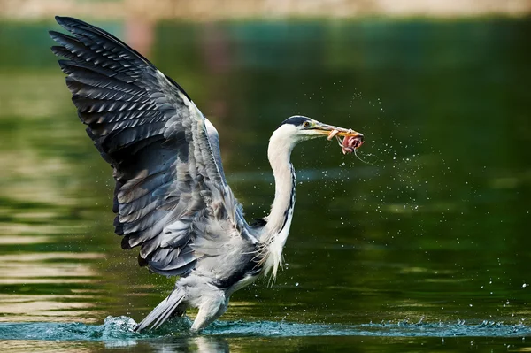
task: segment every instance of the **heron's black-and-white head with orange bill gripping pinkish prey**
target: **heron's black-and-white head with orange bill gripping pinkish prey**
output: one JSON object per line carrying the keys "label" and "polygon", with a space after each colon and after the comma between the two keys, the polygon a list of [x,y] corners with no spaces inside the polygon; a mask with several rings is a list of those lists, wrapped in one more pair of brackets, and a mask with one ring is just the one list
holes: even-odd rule
{"label": "heron's black-and-white head with orange bill gripping pinkish prey", "polygon": [[276,129],[274,134],[278,134],[278,137],[292,145],[317,137],[328,137],[330,140],[334,136],[338,138],[342,137],[342,141],[349,142],[350,147],[354,149],[360,147],[364,142],[363,134],[357,131],[324,124],[301,115],[296,115],[282,121],[281,126]]}

